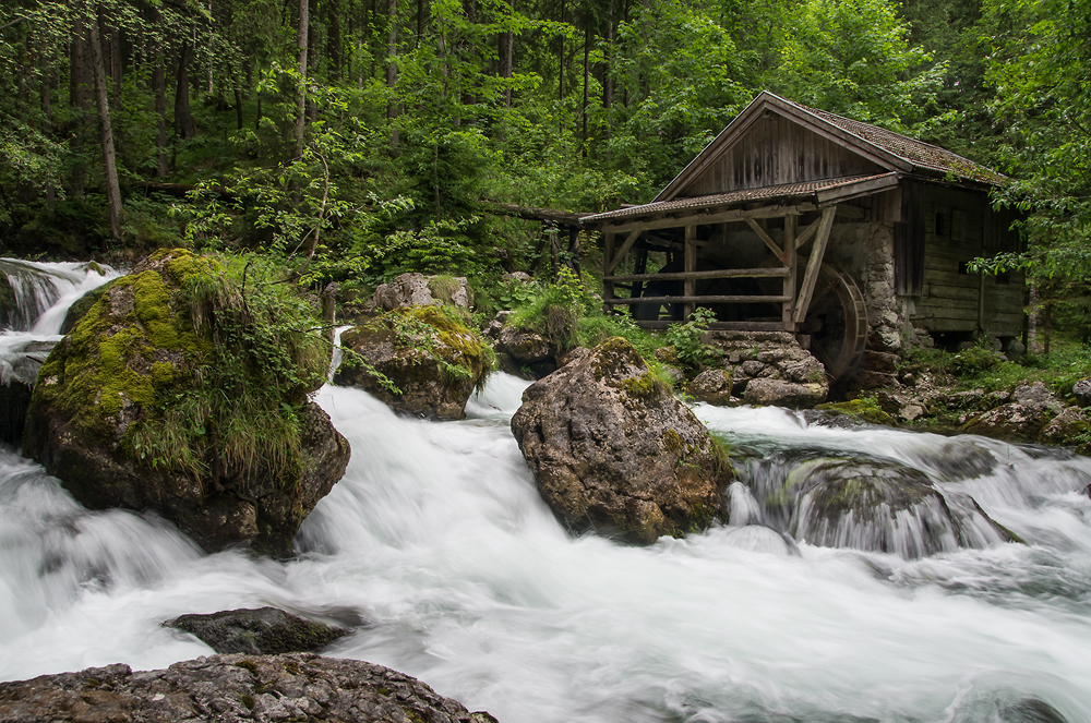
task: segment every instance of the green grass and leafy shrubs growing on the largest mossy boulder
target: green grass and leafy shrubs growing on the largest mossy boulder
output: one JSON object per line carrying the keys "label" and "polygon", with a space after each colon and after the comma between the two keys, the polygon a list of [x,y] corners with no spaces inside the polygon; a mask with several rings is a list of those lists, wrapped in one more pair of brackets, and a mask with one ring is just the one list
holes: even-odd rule
{"label": "green grass and leafy shrubs growing on the largest mossy boulder", "polygon": [[167,385],[122,444],[152,467],[200,479],[249,479],[260,468],[300,479],[300,411],[325,381],[329,346],[315,306],[259,256],[224,256],[181,294],[211,352],[192,385]]}

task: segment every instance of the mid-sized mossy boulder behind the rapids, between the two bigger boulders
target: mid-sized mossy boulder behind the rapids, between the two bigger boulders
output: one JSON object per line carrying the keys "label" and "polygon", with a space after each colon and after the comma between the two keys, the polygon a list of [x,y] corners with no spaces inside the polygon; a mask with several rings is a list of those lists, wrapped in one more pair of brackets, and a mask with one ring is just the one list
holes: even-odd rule
{"label": "mid-sized mossy boulder behind the rapids, between the two bigger boulders", "polygon": [[334,384],[365,389],[407,414],[461,419],[488,371],[480,337],[437,306],[395,309],[341,334],[341,347]]}

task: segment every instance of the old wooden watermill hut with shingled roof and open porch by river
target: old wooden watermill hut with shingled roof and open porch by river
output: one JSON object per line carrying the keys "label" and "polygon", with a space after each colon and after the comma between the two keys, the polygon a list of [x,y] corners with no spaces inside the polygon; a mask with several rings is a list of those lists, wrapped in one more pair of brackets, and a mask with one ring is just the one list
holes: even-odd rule
{"label": "old wooden watermill hut with shingled roof and open porch by river", "polygon": [[907,338],[1021,336],[1022,276],[967,262],[1016,251],[973,161],[762,93],[648,204],[583,219],[604,234],[603,301],[662,328],[789,332],[835,377]]}

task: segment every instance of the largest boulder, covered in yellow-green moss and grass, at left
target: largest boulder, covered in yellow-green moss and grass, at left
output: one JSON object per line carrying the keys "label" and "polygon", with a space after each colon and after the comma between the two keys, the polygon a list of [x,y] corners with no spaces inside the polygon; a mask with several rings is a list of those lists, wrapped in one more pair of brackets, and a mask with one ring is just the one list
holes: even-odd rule
{"label": "largest boulder, covered in yellow-green moss and grass, at left", "polygon": [[[208,551],[243,544],[287,555],[344,473],[349,447],[307,400],[321,374],[310,386],[288,374],[271,388],[225,328],[228,302],[191,303],[193,285],[232,288],[220,284],[226,270],[185,250],[161,251],[112,282],[43,364],[24,450],[87,507],[155,510]],[[252,330],[251,301],[249,315],[239,299],[230,311]],[[220,326],[208,332],[217,315]],[[225,369],[224,350],[236,366]],[[264,406],[240,411],[255,386]]]}

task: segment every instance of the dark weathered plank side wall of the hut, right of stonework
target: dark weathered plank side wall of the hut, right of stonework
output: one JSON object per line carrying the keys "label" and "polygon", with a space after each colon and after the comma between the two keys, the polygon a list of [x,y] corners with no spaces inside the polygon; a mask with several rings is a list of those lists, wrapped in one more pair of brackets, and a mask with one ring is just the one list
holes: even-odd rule
{"label": "dark weathered plank side wall of the hut, right of stonework", "polygon": [[[1023,277],[985,276],[966,270],[966,263],[999,251],[1017,251],[1018,234],[1009,231],[1008,214],[995,213],[984,193],[915,183],[913,228],[923,233],[924,282],[915,299],[914,324],[932,332],[973,332],[981,324],[994,336],[1018,336],[1023,325]],[[916,239],[921,243],[920,237]]]}

